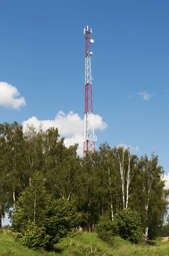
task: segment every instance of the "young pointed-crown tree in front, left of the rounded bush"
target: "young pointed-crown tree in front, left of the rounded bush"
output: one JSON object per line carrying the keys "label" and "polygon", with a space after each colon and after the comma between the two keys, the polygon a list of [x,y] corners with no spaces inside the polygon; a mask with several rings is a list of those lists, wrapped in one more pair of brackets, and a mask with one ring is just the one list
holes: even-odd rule
{"label": "young pointed-crown tree in front, left of the rounded bush", "polygon": [[17,202],[17,210],[12,217],[12,226],[17,232],[26,230],[29,223],[34,226],[45,221],[48,205],[48,194],[44,186],[44,179],[39,171],[35,171],[25,191]]}

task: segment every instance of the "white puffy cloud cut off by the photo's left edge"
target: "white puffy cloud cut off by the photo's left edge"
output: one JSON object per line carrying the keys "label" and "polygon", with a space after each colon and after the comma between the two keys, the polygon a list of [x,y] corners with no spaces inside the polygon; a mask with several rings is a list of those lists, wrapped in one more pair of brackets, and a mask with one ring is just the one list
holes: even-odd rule
{"label": "white puffy cloud cut off by the photo's left edge", "polygon": [[26,105],[26,102],[24,97],[20,97],[16,87],[6,82],[0,82],[0,105],[5,108],[20,109]]}

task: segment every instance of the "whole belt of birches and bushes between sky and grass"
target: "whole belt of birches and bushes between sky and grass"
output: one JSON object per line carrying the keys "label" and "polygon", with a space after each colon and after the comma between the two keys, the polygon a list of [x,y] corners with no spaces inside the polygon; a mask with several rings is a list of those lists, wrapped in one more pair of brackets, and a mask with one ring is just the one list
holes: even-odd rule
{"label": "whole belt of birches and bushes between sky and grass", "polygon": [[[73,227],[92,230],[105,214],[107,221],[118,219],[123,226],[122,211],[131,209],[145,244],[158,236],[168,204],[158,156],[152,152],[150,159],[146,154],[138,159],[129,148],[103,143],[82,160],[77,148],[66,148],[57,128],[43,131],[31,125],[23,131],[17,122],[0,124],[0,226],[8,213],[23,244],[39,248],[30,237],[40,233],[37,241],[45,248]],[[125,230],[118,227],[118,234],[127,239]],[[130,237],[132,242],[140,239]]]}

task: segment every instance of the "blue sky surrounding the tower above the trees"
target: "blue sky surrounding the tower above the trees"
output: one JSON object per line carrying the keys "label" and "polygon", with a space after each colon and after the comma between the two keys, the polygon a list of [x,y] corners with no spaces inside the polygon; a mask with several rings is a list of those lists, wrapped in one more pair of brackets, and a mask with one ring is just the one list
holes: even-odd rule
{"label": "blue sky surrounding the tower above the trees", "polygon": [[[63,111],[57,122],[49,123],[65,118],[60,130],[74,125],[71,132],[59,131],[70,139],[68,144],[77,134],[80,137],[85,105],[83,29],[88,25],[95,41],[91,65],[93,113],[100,116],[97,148],[107,141],[111,146],[137,146],[132,152],[138,156],[155,151],[167,174],[168,12],[167,0],[1,0],[0,81],[13,86],[3,92],[7,101],[13,100],[9,94],[14,87],[24,99],[18,110],[1,97],[0,122],[22,124],[35,116],[38,124]],[[1,85],[2,93],[6,84]],[[74,121],[67,123],[71,118]]]}

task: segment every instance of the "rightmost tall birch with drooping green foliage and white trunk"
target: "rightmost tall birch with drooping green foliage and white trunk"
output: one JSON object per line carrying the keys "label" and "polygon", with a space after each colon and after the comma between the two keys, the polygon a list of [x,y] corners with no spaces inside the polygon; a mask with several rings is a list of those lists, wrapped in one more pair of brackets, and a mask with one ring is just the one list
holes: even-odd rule
{"label": "rightmost tall birch with drooping green foliage and white trunk", "polygon": [[164,189],[163,172],[158,166],[158,156],[152,152],[149,159],[145,154],[137,163],[132,183],[130,207],[140,214],[144,233],[148,230],[149,239],[160,235],[168,208],[169,192]]}

